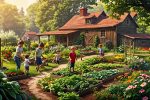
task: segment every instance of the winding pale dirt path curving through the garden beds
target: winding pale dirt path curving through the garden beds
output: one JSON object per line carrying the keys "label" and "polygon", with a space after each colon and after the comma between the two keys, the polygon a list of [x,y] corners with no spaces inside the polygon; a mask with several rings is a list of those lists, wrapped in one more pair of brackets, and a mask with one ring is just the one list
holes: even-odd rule
{"label": "winding pale dirt path curving through the garden beds", "polygon": [[[113,55],[113,54],[112,53],[106,54],[106,56],[110,56],[110,55]],[[83,57],[83,60],[87,58],[92,58],[94,56],[97,56],[97,55],[85,56]],[[78,59],[77,61],[80,61],[80,59]],[[42,89],[39,88],[39,86],[37,85],[37,82],[41,78],[48,76],[50,73],[66,68],[66,67],[67,67],[67,64],[61,64],[57,68],[54,68],[53,70],[49,72],[42,72],[38,76],[31,77],[25,80],[21,80],[19,81],[19,83],[21,84],[21,87],[23,90],[29,92],[29,94],[31,95],[34,95],[38,100],[57,100],[57,97],[52,95],[51,93],[43,92]]]}

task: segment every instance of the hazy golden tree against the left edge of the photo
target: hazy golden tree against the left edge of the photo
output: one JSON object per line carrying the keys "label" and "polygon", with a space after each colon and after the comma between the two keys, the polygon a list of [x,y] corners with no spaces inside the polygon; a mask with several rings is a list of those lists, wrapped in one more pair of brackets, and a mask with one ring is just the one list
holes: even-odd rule
{"label": "hazy golden tree against the left edge of the photo", "polygon": [[7,3],[0,3],[0,27],[4,31],[13,30],[19,36],[24,33],[24,23],[16,6]]}

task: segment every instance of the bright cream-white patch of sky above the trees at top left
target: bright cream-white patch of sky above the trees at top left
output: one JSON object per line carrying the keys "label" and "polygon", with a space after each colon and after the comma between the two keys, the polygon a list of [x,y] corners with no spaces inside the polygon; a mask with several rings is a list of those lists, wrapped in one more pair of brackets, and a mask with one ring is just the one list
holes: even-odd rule
{"label": "bright cream-white patch of sky above the trees at top left", "polygon": [[23,7],[24,10],[26,10],[29,5],[36,2],[36,0],[5,0],[5,2],[16,5],[18,9]]}

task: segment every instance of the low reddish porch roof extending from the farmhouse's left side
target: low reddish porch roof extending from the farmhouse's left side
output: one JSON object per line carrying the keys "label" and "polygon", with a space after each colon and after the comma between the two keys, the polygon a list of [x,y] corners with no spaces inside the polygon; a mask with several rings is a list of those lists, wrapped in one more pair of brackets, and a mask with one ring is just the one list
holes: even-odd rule
{"label": "low reddish porch roof extending from the farmhouse's left side", "polygon": [[64,31],[50,31],[50,32],[45,32],[43,34],[37,34],[38,36],[47,36],[47,35],[66,35],[70,33],[77,32],[77,30],[64,30]]}

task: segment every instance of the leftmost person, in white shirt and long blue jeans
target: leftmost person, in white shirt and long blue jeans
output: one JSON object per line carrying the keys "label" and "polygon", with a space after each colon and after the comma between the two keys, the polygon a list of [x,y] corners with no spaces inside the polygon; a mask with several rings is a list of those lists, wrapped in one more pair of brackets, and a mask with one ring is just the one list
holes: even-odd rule
{"label": "leftmost person, in white shirt and long blue jeans", "polygon": [[15,54],[15,57],[14,57],[14,61],[16,63],[16,69],[19,70],[20,69],[20,66],[21,66],[21,59],[22,59],[22,52],[23,52],[23,44],[24,42],[23,41],[19,41],[18,42],[18,46],[16,48],[16,54]]}

